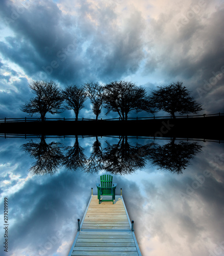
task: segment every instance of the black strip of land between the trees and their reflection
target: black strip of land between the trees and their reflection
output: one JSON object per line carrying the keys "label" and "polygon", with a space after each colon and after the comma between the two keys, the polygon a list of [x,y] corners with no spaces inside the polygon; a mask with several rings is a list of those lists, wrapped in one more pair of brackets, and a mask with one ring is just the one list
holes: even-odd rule
{"label": "black strip of land between the trees and their reflection", "polygon": [[0,123],[2,134],[138,135],[223,140],[224,116],[152,119]]}

